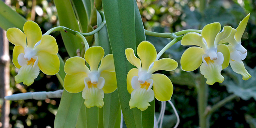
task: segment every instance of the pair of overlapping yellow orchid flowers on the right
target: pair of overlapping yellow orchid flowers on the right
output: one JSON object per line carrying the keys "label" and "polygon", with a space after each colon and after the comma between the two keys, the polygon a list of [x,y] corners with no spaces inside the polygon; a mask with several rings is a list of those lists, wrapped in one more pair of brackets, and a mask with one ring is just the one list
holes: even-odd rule
{"label": "pair of overlapping yellow orchid flowers on the right", "polygon": [[[247,50],[241,45],[246,24],[250,14],[248,14],[236,29],[224,26],[220,32],[220,23],[211,23],[204,26],[202,33],[188,33],[182,40],[182,45],[196,45],[188,48],[181,56],[180,64],[182,70],[193,71],[200,66],[201,74],[207,79],[207,84],[215,82],[222,83],[224,77],[221,70],[228,67],[238,74],[243,75],[244,80],[248,80],[251,75],[244,68],[241,60],[246,57]],[[222,43],[229,43],[228,45]]]}

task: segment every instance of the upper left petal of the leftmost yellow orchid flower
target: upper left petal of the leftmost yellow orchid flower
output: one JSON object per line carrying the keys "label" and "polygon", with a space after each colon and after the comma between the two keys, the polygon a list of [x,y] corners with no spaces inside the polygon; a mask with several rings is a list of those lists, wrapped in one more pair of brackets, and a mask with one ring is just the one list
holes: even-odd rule
{"label": "upper left petal of the leftmost yellow orchid flower", "polygon": [[8,28],[6,31],[7,39],[16,46],[27,47],[26,35],[19,28]]}

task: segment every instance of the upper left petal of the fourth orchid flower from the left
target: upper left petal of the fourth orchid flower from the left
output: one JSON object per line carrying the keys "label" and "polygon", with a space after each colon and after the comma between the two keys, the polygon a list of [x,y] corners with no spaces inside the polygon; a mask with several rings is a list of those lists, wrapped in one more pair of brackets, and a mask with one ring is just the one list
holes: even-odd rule
{"label": "upper left petal of the fourth orchid flower from the left", "polygon": [[188,33],[181,39],[181,45],[196,45],[203,49],[206,48],[206,44],[203,41],[203,36],[198,33]]}

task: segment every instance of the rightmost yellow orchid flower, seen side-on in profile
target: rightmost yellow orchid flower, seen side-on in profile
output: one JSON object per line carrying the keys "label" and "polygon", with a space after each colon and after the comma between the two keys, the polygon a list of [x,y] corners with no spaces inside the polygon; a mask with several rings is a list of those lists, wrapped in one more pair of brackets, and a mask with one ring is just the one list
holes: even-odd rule
{"label": "rightmost yellow orchid flower, seen side-on in profile", "polygon": [[228,48],[230,51],[230,60],[229,64],[234,72],[241,74],[243,80],[248,80],[252,76],[244,67],[244,60],[247,56],[247,50],[242,46],[241,38],[244,34],[246,24],[249,20],[250,14],[248,14],[244,19],[239,23],[238,27],[232,28],[230,36],[224,40],[221,40],[219,44],[228,42]]}

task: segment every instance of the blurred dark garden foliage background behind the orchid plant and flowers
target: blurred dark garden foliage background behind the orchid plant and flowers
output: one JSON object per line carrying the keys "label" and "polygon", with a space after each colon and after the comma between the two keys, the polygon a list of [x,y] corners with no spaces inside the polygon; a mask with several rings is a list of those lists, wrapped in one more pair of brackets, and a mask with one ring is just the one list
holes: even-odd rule
{"label": "blurred dark garden foliage background behind the orchid plant and flowers", "polygon": [[[223,26],[236,28],[239,22],[251,13],[242,45],[248,50],[244,62],[246,69],[252,75],[248,81],[243,81],[241,75],[234,73],[230,66],[222,71],[225,80],[222,84],[209,85],[208,104],[213,105],[234,93],[238,97],[218,109],[210,117],[213,128],[256,128],[256,86],[255,86],[255,47],[256,43],[256,0],[210,0],[205,9],[199,11],[200,0],[137,0],[144,27],[147,30],[171,33],[184,29],[202,29],[204,25],[220,22]],[[58,26],[58,16],[53,0],[12,0],[11,6],[27,20],[34,20],[45,33]],[[59,53],[68,59],[68,54],[62,42],[60,32],[51,34],[57,40]],[[170,39],[146,36],[159,52]],[[10,57],[14,45],[10,43]],[[180,57],[188,47],[180,42],[168,49],[163,57],[173,58],[180,62]],[[180,64],[180,63],[179,63]],[[40,73],[31,86],[15,83],[14,76],[18,69],[11,62],[11,91],[13,94],[22,92],[55,91],[61,89],[56,76]],[[158,71],[170,77],[174,86],[172,102],[179,116],[179,128],[198,127],[197,91],[195,79],[198,70],[184,72],[179,67],[171,72]],[[0,102],[1,103],[1,102]],[[60,99],[19,100],[11,101],[10,127],[14,128],[53,128],[55,114]],[[0,104],[1,105],[1,104]],[[159,115],[161,102],[156,100],[156,115]],[[176,123],[172,107],[167,103],[164,128],[171,128]]]}

